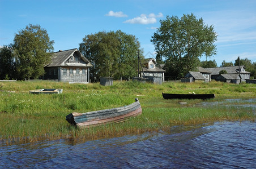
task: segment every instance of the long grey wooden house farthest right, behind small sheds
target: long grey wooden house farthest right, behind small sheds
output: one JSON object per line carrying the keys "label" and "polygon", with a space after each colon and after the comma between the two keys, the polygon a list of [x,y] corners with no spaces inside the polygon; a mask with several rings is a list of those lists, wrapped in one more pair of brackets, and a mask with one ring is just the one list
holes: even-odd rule
{"label": "long grey wooden house farthest right, behind small sheds", "polygon": [[243,82],[245,82],[245,79],[250,79],[250,74],[251,74],[250,72],[245,71],[245,66],[243,66],[243,65],[240,66],[240,71],[239,71],[239,66],[204,68],[204,69],[211,72],[211,79],[216,79],[217,77],[219,77],[221,70],[225,70],[227,72],[225,74],[229,74],[231,76],[240,74],[241,81],[243,81]]}

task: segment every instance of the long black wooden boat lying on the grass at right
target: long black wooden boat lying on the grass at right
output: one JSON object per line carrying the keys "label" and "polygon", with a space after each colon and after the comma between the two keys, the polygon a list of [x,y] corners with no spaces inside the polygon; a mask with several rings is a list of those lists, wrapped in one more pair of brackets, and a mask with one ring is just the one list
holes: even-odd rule
{"label": "long black wooden boat lying on the grass at right", "polygon": [[214,94],[164,94],[164,99],[212,99]]}

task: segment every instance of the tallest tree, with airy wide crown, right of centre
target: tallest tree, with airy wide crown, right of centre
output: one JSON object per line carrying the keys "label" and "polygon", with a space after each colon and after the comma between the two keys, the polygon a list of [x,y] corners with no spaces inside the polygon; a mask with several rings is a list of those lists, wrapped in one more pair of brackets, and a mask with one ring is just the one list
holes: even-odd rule
{"label": "tallest tree, with airy wide crown, right of centre", "polygon": [[167,74],[174,72],[177,78],[184,77],[188,71],[197,69],[199,57],[216,54],[214,26],[205,25],[202,18],[198,20],[193,14],[181,19],[167,16],[160,24],[151,42],[155,45],[156,60],[165,59],[167,65],[172,65]]}

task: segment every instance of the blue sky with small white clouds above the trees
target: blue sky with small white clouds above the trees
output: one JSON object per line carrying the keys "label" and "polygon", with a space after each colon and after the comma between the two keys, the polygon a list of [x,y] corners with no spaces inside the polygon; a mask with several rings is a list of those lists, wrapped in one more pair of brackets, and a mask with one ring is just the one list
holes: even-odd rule
{"label": "blue sky with small white clouds above the trees", "polygon": [[146,58],[155,57],[150,40],[159,20],[191,13],[218,34],[217,55],[207,60],[215,59],[218,66],[223,60],[234,63],[238,56],[256,62],[255,0],[0,0],[0,46],[12,43],[28,24],[39,24],[54,40],[54,51],[78,48],[88,34],[121,30],[138,38]]}

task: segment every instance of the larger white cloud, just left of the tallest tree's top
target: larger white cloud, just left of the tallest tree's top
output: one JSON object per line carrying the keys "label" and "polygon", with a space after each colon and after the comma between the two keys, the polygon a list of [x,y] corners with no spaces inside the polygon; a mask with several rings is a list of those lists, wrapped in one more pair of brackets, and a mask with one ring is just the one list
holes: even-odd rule
{"label": "larger white cloud, just left of the tallest tree's top", "polygon": [[156,18],[157,17],[163,17],[163,14],[160,12],[158,15],[155,14],[150,14],[150,15],[146,15],[146,14],[142,14],[138,17],[134,17],[133,19],[129,19],[124,21],[123,23],[129,23],[129,24],[154,24],[156,23]]}

